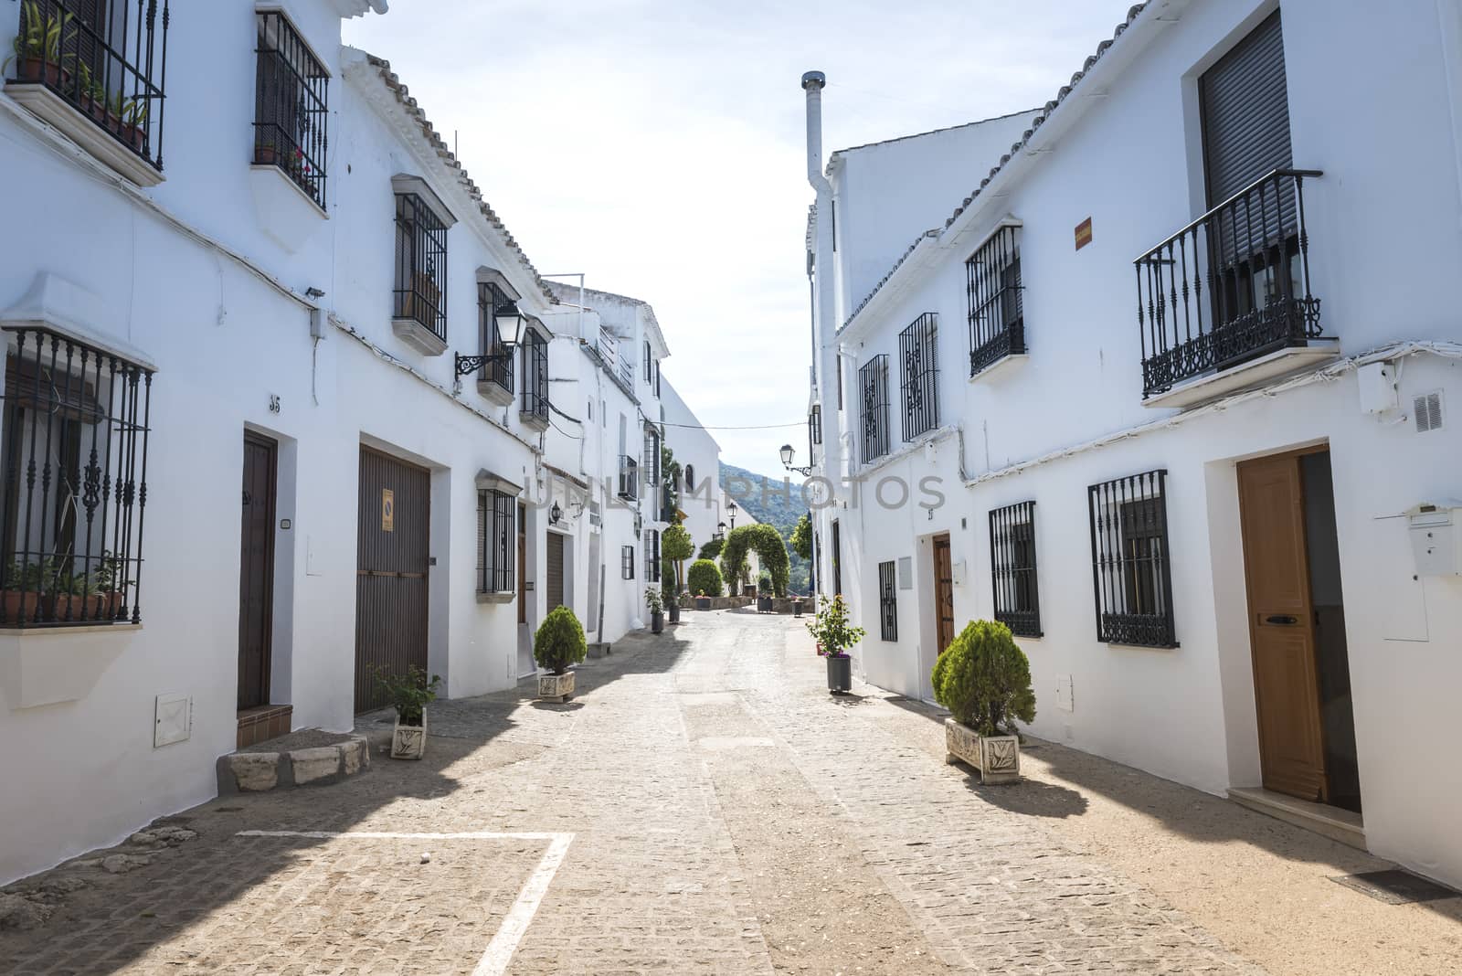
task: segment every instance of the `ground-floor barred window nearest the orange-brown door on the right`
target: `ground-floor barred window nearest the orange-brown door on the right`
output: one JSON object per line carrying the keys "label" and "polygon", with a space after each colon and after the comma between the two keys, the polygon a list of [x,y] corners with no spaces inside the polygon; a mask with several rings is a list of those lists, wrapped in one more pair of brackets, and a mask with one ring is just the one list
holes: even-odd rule
{"label": "ground-floor barred window nearest the orange-brown door on the right", "polygon": [[1168,576],[1167,470],[1086,489],[1096,638],[1177,647]]}

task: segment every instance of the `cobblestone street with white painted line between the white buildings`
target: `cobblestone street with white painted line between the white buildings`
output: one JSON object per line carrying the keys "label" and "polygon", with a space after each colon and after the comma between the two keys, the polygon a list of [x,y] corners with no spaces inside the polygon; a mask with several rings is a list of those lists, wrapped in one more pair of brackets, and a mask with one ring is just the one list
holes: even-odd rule
{"label": "cobblestone street with white painted line between the white buildings", "polygon": [[567,704],[436,703],[421,763],[364,716],[361,776],[186,811],[168,823],[196,839],[133,871],[58,868],[85,882],[0,934],[0,969],[1462,969],[1462,899],[1329,880],[1386,862],[1051,744],[980,786],[933,709],[827,695],[801,621],[684,621],[586,662]]}

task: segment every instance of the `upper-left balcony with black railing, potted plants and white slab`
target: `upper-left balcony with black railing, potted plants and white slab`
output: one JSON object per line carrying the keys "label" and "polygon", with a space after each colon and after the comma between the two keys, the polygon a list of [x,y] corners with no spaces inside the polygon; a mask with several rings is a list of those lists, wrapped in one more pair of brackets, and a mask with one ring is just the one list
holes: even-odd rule
{"label": "upper-left balcony with black railing, potted plants and white slab", "polygon": [[6,91],[137,186],[162,183],[168,0],[23,0]]}

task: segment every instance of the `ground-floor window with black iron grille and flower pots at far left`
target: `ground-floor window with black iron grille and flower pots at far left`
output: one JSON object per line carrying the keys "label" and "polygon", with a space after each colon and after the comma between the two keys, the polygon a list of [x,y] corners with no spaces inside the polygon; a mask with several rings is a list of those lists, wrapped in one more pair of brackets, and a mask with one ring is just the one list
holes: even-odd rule
{"label": "ground-floor window with black iron grille and flower pots at far left", "polygon": [[0,627],[142,622],[152,370],[45,327],[12,335]]}

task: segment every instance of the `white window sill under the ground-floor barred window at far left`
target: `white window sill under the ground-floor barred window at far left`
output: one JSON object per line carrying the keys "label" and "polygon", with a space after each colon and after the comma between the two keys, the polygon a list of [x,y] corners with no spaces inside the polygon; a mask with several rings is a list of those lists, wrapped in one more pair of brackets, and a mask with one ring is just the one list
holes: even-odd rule
{"label": "white window sill under the ground-floor barred window at far left", "polygon": [[[140,630],[140,624],[96,624],[0,631],[0,691],[6,704],[18,712],[80,701]],[[42,636],[47,640],[38,640]]]}

